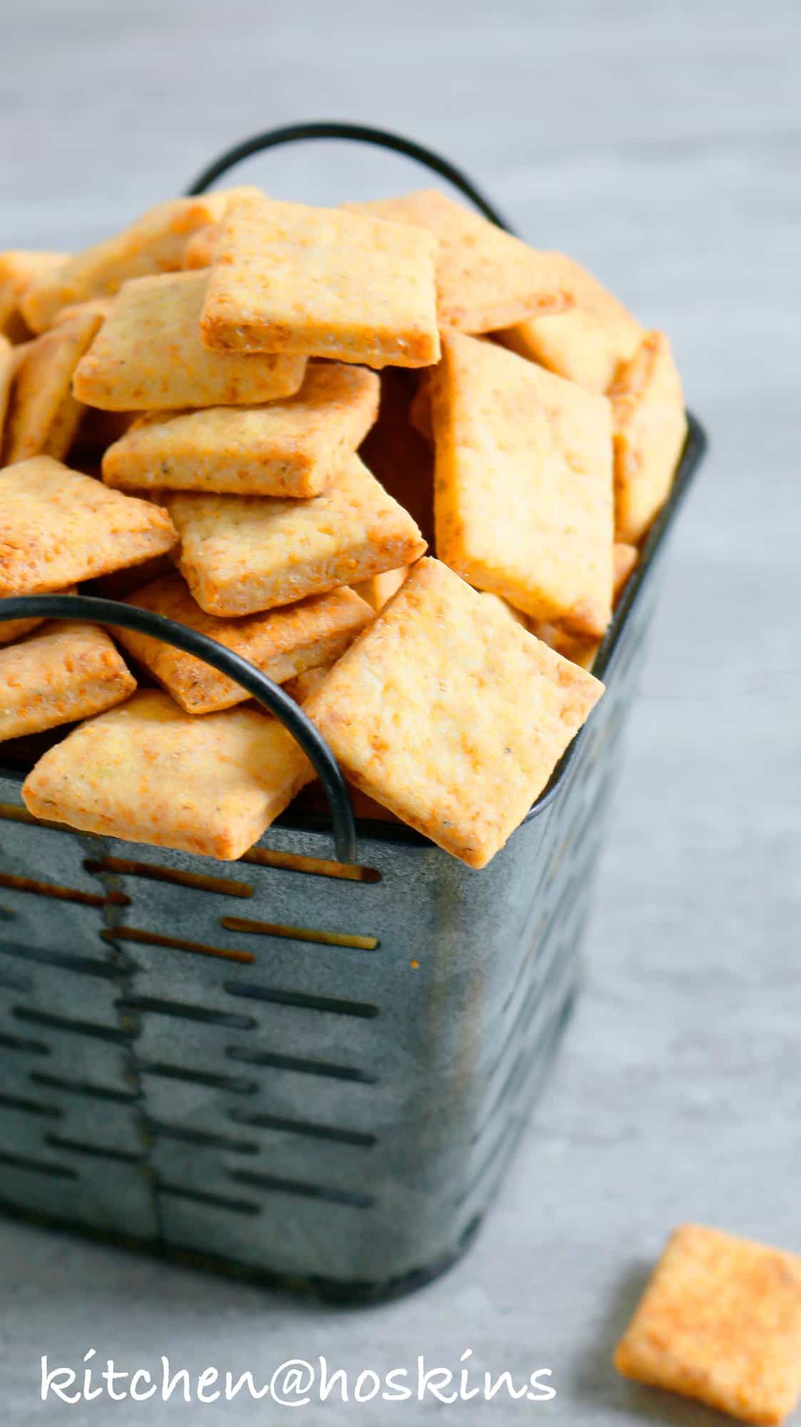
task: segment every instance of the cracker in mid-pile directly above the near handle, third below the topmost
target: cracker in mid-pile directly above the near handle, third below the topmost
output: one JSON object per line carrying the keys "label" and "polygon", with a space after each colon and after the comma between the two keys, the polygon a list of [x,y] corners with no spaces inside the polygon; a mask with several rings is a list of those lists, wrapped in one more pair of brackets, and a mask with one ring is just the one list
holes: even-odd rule
{"label": "cracker in mid-pile directly above the near handle, third below the topmost", "polygon": [[425,549],[413,519],[356,455],[311,501],[167,495],[180,569],[201,609],[249,615],[409,565]]}

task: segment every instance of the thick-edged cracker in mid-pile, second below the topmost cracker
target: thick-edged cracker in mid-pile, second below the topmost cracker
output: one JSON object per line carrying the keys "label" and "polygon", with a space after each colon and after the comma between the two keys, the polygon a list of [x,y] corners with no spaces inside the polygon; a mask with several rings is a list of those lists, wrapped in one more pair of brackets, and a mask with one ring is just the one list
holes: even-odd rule
{"label": "thick-edged cracker in mid-pile, second below the topmost cracker", "polygon": [[284,401],[148,414],[107,450],[103,479],[121,489],[319,495],[375,421],[378,391],[365,367],[309,362]]}

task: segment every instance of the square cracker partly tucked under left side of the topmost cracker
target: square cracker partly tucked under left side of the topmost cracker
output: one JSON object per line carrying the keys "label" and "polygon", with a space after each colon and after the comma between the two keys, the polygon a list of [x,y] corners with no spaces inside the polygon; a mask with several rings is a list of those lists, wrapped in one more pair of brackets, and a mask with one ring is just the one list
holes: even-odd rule
{"label": "square cracker partly tucked under left side of the topmost cracker", "polygon": [[125,283],[86,357],[73,391],[87,407],[147,411],[254,405],[291,397],[305,357],[210,352],[198,318],[207,273],[165,273]]}

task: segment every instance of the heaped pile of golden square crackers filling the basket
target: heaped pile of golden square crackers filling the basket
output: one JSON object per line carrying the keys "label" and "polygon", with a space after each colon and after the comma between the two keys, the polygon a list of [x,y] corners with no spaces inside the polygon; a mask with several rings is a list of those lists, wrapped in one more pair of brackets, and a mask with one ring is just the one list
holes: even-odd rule
{"label": "heaped pile of golden square crackers filling the basket", "polygon": [[[258,188],[0,254],[0,596],[211,635],[373,816],[485,866],[603,692],[686,437],[667,338],[438,191]],[[71,621],[0,641],[0,739],[78,723],[26,779],[36,816],[232,859],[312,781],[190,655]]]}

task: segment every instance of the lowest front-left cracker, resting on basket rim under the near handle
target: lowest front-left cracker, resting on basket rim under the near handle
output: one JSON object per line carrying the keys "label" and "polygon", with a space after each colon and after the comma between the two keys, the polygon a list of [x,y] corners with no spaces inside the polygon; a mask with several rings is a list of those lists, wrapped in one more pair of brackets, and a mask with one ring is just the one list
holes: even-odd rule
{"label": "lowest front-left cracker, resting on basket rim under the near handle", "polygon": [[160,689],[81,723],[23,783],[34,818],[232,860],[258,842],[312,766],[255,709],[192,718]]}

